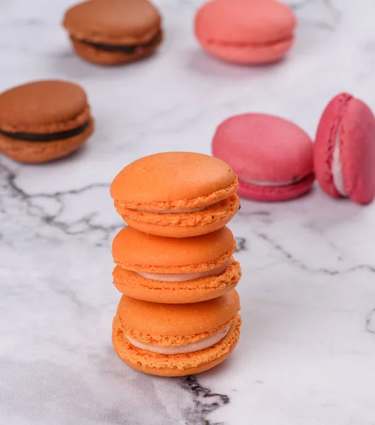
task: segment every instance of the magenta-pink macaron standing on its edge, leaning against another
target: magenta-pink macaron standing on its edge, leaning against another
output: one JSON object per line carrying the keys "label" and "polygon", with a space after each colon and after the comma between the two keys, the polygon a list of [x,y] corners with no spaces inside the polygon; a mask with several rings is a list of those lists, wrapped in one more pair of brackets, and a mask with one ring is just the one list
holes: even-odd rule
{"label": "magenta-pink macaron standing on its edge, leaning against another", "polygon": [[375,118],[370,108],[342,93],[325,108],[316,132],[314,167],[321,188],[359,204],[375,196]]}

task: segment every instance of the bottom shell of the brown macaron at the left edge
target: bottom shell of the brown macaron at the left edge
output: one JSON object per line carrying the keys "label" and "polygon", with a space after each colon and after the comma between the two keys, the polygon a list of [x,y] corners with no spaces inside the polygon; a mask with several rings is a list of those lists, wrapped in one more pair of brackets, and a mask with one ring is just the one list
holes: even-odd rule
{"label": "bottom shell of the brown macaron at the left edge", "polygon": [[67,157],[78,150],[91,136],[93,130],[93,118],[89,118],[88,127],[79,135],[54,142],[25,142],[0,134],[0,152],[15,161],[26,164],[49,162]]}

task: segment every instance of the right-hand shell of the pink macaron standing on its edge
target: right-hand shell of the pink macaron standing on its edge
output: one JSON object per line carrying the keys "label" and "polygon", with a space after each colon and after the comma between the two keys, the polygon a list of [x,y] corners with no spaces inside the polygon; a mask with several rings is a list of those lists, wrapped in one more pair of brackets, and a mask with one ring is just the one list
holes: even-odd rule
{"label": "right-hand shell of the pink macaron standing on its edge", "polygon": [[375,196],[375,118],[365,103],[346,104],[339,138],[345,189],[354,202],[368,204]]}

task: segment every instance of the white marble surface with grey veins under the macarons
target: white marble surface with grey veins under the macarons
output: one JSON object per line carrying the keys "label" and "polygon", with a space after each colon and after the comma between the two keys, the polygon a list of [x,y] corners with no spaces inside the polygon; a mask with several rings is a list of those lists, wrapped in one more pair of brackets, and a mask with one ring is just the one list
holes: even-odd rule
{"label": "white marble surface with grey veins under the macarons", "polygon": [[158,1],[158,55],[108,69],[71,51],[59,25],[69,0],[0,3],[0,89],[78,81],[97,123],[67,160],[0,158],[0,424],[375,424],[375,204],[317,187],[289,203],[243,201],[231,223],[243,238],[243,331],[228,361],[163,379],[113,353],[110,242],[122,222],[108,186],[122,166],[158,151],[209,153],[234,113],[275,113],[313,135],[339,91],[375,108],[374,0],[293,1],[294,50],[263,68],[204,55],[191,30],[198,4]]}

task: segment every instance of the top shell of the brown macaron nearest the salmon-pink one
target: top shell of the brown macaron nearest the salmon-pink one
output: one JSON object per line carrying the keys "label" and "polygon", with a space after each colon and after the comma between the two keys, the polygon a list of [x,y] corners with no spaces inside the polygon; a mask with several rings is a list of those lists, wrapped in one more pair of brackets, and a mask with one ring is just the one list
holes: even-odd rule
{"label": "top shell of the brown macaron nearest the salmon-pink one", "polygon": [[161,26],[147,0],[89,0],[69,8],[64,27],[77,39],[112,45],[149,41]]}

